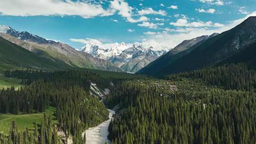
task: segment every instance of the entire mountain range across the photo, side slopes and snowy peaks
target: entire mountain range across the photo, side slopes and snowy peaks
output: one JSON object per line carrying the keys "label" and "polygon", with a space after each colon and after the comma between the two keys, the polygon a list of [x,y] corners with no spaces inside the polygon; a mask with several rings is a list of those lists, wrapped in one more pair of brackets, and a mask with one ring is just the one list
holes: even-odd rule
{"label": "entire mountain range across the photo, side slopes and snowy peaks", "polygon": [[139,43],[104,47],[89,42],[76,50],[8,26],[0,26],[0,44],[0,67],[3,69],[90,68],[164,76],[226,63],[247,63],[256,68],[256,17],[249,17],[221,34],[185,40],[169,52]]}

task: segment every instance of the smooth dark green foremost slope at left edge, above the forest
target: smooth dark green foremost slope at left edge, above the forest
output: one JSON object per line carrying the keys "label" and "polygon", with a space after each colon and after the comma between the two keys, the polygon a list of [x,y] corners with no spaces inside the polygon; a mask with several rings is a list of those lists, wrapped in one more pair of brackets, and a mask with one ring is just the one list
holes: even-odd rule
{"label": "smooth dark green foremost slope at left edge, above the forest", "polygon": [[65,69],[69,66],[63,62],[42,58],[21,46],[0,37],[0,71],[14,68]]}

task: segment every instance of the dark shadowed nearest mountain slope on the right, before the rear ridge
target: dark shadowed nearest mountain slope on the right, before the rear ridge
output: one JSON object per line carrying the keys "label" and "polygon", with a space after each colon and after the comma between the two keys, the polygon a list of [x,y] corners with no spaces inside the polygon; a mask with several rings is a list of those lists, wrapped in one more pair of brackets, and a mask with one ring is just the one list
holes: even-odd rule
{"label": "dark shadowed nearest mountain slope on the right, before the rear ridge", "polygon": [[217,63],[246,62],[247,55],[250,55],[248,61],[253,63],[255,60],[251,54],[254,54],[255,43],[256,17],[250,17],[237,27],[209,38],[165,68],[158,69],[158,75],[201,69]]}

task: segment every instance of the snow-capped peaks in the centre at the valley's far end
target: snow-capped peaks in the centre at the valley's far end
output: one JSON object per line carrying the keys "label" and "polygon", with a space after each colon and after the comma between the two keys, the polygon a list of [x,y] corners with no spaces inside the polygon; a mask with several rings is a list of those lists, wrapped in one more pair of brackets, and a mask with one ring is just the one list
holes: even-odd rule
{"label": "snow-capped peaks in the centre at the valley's far end", "polygon": [[137,72],[139,69],[165,54],[166,50],[157,51],[153,46],[140,43],[112,45],[96,45],[89,42],[80,51],[89,53],[94,57],[109,60],[126,72]]}

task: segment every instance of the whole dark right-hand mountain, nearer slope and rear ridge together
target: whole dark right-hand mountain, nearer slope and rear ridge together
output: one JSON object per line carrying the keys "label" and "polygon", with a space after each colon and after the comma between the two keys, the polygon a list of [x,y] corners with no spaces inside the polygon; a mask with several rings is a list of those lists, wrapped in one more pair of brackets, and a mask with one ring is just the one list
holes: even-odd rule
{"label": "whole dark right-hand mountain, nearer slope and rear ridge together", "polygon": [[247,63],[255,67],[256,17],[249,17],[237,27],[219,35],[200,39],[186,48],[178,45],[137,73],[164,76],[225,63]]}

